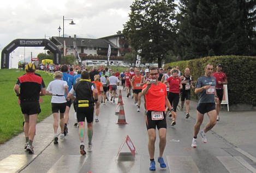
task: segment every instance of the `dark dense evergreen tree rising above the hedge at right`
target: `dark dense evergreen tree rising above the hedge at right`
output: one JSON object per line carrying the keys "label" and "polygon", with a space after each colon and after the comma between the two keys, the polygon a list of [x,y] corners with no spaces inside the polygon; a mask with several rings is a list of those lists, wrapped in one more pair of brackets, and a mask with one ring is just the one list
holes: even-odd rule
{"label": "dark dense evergreen tree rising above the hedge at right", "polygon": [[255,1],[181,0],[176,53],[183,59],[255,55],[255,13],[248,21],[252,3],[255,11]]}

